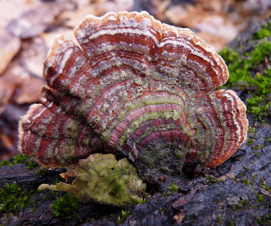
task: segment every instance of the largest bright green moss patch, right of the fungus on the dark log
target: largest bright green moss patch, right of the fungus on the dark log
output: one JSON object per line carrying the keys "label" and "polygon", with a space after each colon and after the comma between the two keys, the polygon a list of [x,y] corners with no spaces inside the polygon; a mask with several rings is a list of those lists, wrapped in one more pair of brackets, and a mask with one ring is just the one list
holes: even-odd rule
{"label": "largest bright green moss patch, right of the fungus on the dark log", "polygon": [[[247,111],[254,114],[259,121],[270,116],[271,112],[271,69],[262,68],[270,64],[271,42],[261,40],[251,53],[246,56],[229,47],[219,53],[228,65],[230,77],[225,86],[242,86],[248,90],[253,88],[250,98],[246,100]],[[267,60],[267,62],[266,62]],[[256,72],[256,73],[255,73]],[[252,74],[256,74],[252,76]]]}

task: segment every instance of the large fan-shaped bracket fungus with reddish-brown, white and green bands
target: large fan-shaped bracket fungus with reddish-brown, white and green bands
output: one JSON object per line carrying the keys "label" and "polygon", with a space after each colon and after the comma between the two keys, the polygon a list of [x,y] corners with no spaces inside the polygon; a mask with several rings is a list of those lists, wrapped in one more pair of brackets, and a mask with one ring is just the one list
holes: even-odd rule
{"label": "large fan-shaped bracket fungus with reddish-brown, white and green bands", "polygon": [[227,66],[191,30],[120,12],[88,15],[74,34],[80,46],[54,38],[44,105],[20,119],[19,151],[42,166],[72,176],[80,159],[112,153],[155,182],[186,163],[214,168],[246,140],[244,103],[213,90]]}

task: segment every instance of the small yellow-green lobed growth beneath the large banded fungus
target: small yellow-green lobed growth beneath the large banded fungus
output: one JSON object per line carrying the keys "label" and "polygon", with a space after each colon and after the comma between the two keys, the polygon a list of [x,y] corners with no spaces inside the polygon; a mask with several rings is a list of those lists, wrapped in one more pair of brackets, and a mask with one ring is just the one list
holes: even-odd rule
{"label": "small yellow-green lobed growth beneath the large banded fungus", "polygon": [[137,171],[126,158],[116,160],[113,154],[96,153],[79,160],[71,184],[42,184],[39,189],[68,191],[80,201],[97,201],[104,204],[124,206],[137,200],[146,189],[146,184],[137,176]]}

